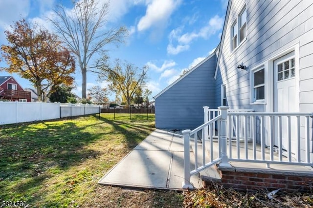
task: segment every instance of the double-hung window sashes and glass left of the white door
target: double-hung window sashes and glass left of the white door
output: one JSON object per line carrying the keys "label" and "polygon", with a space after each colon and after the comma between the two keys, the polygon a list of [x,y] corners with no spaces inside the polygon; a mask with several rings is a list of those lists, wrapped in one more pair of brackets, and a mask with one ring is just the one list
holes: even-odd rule
{"label": "double-hung window sashes and glass left of the white door", "polygon": [[264,102],[265,98],[265,70],[264,67],[252,71],[252,102]]}

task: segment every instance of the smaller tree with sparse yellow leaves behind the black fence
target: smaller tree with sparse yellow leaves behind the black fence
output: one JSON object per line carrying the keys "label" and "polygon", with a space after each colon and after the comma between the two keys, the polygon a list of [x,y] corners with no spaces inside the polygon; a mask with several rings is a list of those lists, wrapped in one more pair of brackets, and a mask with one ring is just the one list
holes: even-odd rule
{"label": "smaller tree with sparse yellow leaves behind the black fence", "polygon": [[100,59],[97,65],[99,79],[108,81],[109,89],[120,95],[130,107],[134,94],[145,85],[148,79],[148,67],[138,68],[132,63],[121,62],[119,59],[115,61],[113,67],[110,67],[106,58]]}

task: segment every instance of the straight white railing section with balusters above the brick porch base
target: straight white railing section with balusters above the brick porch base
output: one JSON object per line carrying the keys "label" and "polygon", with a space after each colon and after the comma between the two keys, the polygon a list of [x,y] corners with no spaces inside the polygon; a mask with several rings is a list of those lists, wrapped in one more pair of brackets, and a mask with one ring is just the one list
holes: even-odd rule
{"label": "straight white railing section with balusters above the brick porch base", "polygon": [[228,112],[227,121],[229,161],[313,165],[311,113]]}

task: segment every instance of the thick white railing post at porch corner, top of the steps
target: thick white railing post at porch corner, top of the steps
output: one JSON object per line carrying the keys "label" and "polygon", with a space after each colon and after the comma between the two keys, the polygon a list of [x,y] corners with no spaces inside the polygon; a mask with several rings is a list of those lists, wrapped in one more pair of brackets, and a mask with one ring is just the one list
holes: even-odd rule
{"label": "thick white railing post at porch corner, top of the steps", "polygon": [[221,129],[220,129],[220,135],[221,135],[221,163],[220,166],[223,167],[231,167],[231,165],[228,163],[228,156],[227,156],[227,110],[229,109],[228,106],[220,106],[219,110],[221,111]]}

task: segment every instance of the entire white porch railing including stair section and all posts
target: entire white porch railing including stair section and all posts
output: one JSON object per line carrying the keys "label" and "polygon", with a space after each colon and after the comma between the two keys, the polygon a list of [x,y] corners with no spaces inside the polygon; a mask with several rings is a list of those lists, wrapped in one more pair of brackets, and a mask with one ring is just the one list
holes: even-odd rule
{"label": "entire white porch railing including stair section and all posts", "polygon": [[[191,175],[216,163],[220,163],[220,166],[230,166],[230,161],[264,163],[267,166],[313,166],[312,113],[236,112],[221,106],[218,111],[210,109],[209,117],[209,108],[203,108],[204,119],[210,120],[192,131],[182,131],[183,188],[192,188]],[[193,170],[190,168],[190,138],[194,138]],[[198,142],[201,142],[200,153]],[[208,160],[205,159],[207,152]],[[199,155],[201,162],[198,161]]]}

